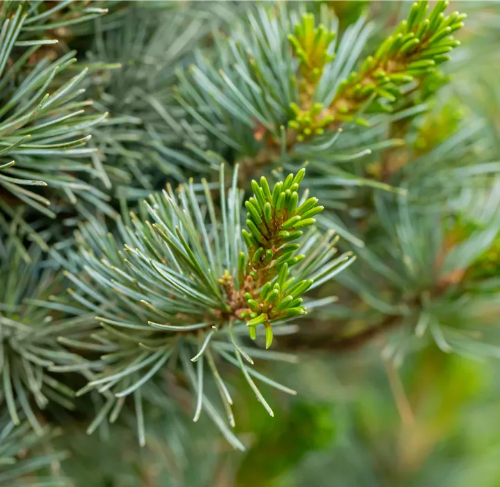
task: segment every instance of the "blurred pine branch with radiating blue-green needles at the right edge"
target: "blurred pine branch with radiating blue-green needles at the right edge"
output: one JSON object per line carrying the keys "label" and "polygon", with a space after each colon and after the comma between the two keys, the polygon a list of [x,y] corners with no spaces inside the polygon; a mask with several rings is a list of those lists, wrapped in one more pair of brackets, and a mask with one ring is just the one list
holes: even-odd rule
{"label": "blurred pine branch with radiating blue-green needles at the right edge", "polygon": [[[324,340],[325,347],[350,349],[399,327],[400,333],[386,347],[392,356],[413,349],[423,337],[445,352],[497,356],[498,347],[485,342],[483,333],[488,333],[497,313],[499,288],[490,281],[485,282],[484,293],[473,291],[479,291],[474,282],[478,266],[500,233],[495,193],[494,188],[472,193],[484,227],[458,233],[458,241],[456,229],[451,235],[447,229],[446,222],[454,219],[449,210],[434,208],[422,214],[402,197],[396,205],[378,201],[375,208],[384,216],[386,229],[370,229],[368,246],[358,251],[360,264],[341,275],[364,303],[353,300],[352,310],[343,318],[359,320],[357,313],[366,305],[373,313],[363,315],[360,332]],[[466,203],[464,208],[469,208]],[[334,313],[330,311],[332,317]]]}

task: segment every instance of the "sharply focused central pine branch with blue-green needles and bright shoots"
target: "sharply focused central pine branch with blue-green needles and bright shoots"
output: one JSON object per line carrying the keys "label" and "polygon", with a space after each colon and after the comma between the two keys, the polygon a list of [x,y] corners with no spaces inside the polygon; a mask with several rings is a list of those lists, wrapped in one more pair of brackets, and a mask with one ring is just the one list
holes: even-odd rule
{"label": "sharply focused central pine branch with blue-green needles and bright shoots", "polygon": [[[303,176],[301,171],[295,178],[290,174],[284,183],[276,183],[274,198],[265,178],[261,186],[253,183],[255,198],[246,204],[250,232],[240,232],[238,174],[234,172],[226,193],[223,166],[222,221],[217,219],[208,183],[204,181],[200,188],[190,181],[179,187],[177,194],[168,187],[163,194],[151,195],[141,214],[148,214],[152,223],[132,213],[129,226],[118,224],[118,241],[96,224],[80,229],[80,266],[85,272],[66,273],[77,288],[70,293],[84,309],[96,313],[102,327],[92,333],[85,348],[98,352],[106,344],[111,349],[100,358],[89,357],[91,360],[73,366],[56,365],[51,370],[83,371],[89,384],[77,394],[92,389],[105,394],[106,403],[90,431],[110,414],[115,421],[123,398],[134,395],[143,443],[141,387],[154,380],[166,364],[176,367],[178,357],[197,398],[194,421],[205,410],[235,448],[243,448],[242,443],[206,396],[205,363],[230,424],[234,422],[233,400],[217,371],[221,359],[242,371],[271,416],[271,407],[252,377],[295,394],[249,366],[253,365],[252,356],[267,355],[258,348],[245,347],[240,335],[249,329],[251,338],[256,339],[256,327],[264,324],[269,347],[273,331],[285,333],[289,325],[284,322],[305,314],[299,296],[332,279],[353,260],[351,252],[334,259],[336,240],[331,235],[321,237],[314,228],[304,235],[301,245],[288,243],[301,237],[301,228],[312,226],[312,216],[321,211],[321,207],[314,208],[316,199],[306,201],[305,195],[304,201],[299,200],[297,190]],[[203,189],[204,196],[200,198],[197,189]],[[249,246],[247,252],[243,240]],[[301,246],[314,246],[315,250],[307,252],[307,257],[294,257]],[[289,278],[292,266],[294,277]],[[268,357],[280,360],[280,354],[269,352]]]}

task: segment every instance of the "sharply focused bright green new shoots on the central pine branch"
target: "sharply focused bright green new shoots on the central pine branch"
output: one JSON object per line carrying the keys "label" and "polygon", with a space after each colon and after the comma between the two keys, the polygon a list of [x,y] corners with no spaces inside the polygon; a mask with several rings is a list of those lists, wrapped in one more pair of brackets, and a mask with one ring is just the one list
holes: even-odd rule
{"label": "sharply focused bright green new shoots on the central pine branch", "polygon": [[298,187],[304,174],[305,169],[296,176],[289,174],[272,191],[262,176],[260,185],[252,181],[253,197],[245,202],[248,230],[242,230],[242,235],[248,252],[240,252],[238,271],[248,309],[240,318],[247,322],[253,340],[256,327],[265,327],[267,348],[273,338],[271,322],[304,315],[301,295],[313,284],[312,279],[295,282],[290,277],[290,268],[305,258],[295,255],[300,248],[295,241],[323,210],[316,206],[316,198],[299,202]]}

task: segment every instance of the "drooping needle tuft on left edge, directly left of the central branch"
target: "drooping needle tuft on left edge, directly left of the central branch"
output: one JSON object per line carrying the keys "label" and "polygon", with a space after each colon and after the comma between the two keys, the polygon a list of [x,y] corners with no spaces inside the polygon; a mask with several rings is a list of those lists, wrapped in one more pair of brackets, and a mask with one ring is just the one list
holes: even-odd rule
{"label": "drooping needle tuft on left edge, directly left of the central branch", "polygon": [[81,332],[93,320],[83,313],[64,318],[78,309],[55,297],[62,276],[46,268],[39,246],[24,246],[15,223],[8,232],[0,228],[0,392],[12,423],[20,424],[19,405],[31,428],[41,434],[37,410],[49,401],[74,407],[73,391],[46,371],[55,362],[76,358],[57,337],[69,339],[72,331]]}

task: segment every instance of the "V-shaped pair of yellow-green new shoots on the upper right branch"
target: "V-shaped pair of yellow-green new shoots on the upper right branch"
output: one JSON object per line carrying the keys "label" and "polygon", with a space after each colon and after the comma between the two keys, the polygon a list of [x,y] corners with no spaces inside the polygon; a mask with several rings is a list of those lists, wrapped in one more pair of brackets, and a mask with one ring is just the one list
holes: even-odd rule
{"label": "V-shaped pair of yellow-green new shoots on the upper right branch", "polygon": [[363,107],[370,112],[391,112],[391,104],[402,98],[402,86],[411,82],[425,90],[427,78],[438,73],[436,66],[447,61],[448,54],[460,44],[452,34],[463,26],[467,16],[459,12],[445,16],[448,4],[448,0],[440,0],[428,13],[427,0],[413,3],[408,19],[401,21],[376,53],[364,60],[359,72],[353,71],[339,83],[328,106],[314,102],[314,95],[325,65],[334,59],[328,54],[334,34],[321,25],[314,28],[312,14],[303,15],[295,34],[289,35],[303,76],[300,106],[290,104],[294,119],[289,127],[298,134],[297,140],[321,136],[339,122],[367,125],[366,119],[357,116]]}

